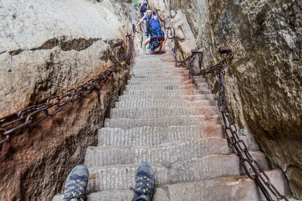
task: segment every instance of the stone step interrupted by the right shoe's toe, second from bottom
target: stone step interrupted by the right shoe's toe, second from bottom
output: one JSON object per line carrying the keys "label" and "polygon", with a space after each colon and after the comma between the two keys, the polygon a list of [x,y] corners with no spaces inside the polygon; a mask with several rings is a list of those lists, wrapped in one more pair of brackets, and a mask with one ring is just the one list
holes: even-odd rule
{"label": "stone step interrupted by the right shoe's toe, second from bottom", "polygon": [[[261,152],[251,152],[264,171],[269,170]],[[110,165],[89,168],[88,192],[110,189],[129,189],[134,186],[134,175],[138,164]],[[165,166],[152,164],[157,185],[177,182],[200,181],[217,177],[245,175],[240,158],[236,154],[216,154],[203,158],[192,158]]]}

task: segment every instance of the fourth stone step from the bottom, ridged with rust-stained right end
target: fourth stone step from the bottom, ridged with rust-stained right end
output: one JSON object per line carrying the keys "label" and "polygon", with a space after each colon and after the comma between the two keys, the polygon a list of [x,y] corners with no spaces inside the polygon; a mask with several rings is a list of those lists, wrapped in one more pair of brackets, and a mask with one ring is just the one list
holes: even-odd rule
{"label": "fourth stone step from the bottom, ridged with rust-stained right end", "polygon": [[167,127],[136,127],[133,129],[102,128],[98,146],[158,146],[193,138],[223,138],[222,125],[188,125]]}

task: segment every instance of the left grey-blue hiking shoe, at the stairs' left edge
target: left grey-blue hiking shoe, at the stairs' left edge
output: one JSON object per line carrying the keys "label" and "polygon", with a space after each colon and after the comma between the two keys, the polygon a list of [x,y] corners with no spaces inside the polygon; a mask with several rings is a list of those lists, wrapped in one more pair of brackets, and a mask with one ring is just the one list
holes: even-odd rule
{"label": "left grey-blue hiking shoe, at the stairs' left edge", "polygon": [[88,169],[85,165],[75,166],[69,173],[64,187],[64,201],[86,200],[86,188],[88,184]]}

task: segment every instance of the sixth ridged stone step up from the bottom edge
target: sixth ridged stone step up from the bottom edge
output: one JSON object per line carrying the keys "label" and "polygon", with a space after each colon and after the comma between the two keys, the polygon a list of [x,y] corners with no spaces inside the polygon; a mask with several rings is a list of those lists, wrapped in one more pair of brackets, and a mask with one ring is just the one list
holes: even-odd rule
{"label": "sixth ridged stone step up from the bottom edge", "polygon": [[189,108],[180,108],[180,107],[123,108],[123,109],[110,110],[111,119],[116,119],[116,118],[158,119],[167,116],[184,116],[184,115],[213,116],[218,114],[220,114],[218,111],[218,107],[214,107],[214,106],[189,107]]}

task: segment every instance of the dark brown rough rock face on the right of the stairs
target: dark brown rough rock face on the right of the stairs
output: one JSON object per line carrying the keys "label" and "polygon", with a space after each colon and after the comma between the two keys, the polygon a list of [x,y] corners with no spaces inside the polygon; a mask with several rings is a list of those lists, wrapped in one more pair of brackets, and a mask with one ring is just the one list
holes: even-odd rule
{"label": "dark brown rough rock face on the right of the stairs", "polygon": [[[185,38],[178,54],[186,57],[190,49],[201,48],[202,69],[223,58],[219,46],[233,46],[235,57],[224,79],[233,119],[256,137],[273,168],[289,171],[293,196],[302,198],[301,177],[296,177],[302,173],[302,3],[172,0],[170,8],[173,32]],[[205,78],[216,93],[215,75]]]}

